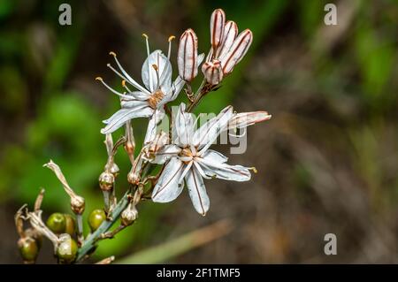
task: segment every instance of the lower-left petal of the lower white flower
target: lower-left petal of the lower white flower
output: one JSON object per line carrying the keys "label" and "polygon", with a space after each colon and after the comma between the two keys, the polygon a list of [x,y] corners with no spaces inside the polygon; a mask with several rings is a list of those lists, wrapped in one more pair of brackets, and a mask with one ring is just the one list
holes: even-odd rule
{"label": "lower-left petal of the lower white flower", "polygon": [[178,183],[180,175],[184,170],[185,164],[180,162],[177,157],[173,157],[169,163],[165,165],[157,185],[152,192],[153,202],[172,202],[181,193],[184,182]]}

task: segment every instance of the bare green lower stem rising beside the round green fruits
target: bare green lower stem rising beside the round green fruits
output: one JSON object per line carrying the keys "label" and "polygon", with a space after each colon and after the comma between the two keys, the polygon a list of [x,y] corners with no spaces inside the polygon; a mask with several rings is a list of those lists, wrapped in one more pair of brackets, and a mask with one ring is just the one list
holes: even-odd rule
{"label": "bare green lower stem rising beside the round green fruits", "polygon": [[101,234],[108,232],[111,226],[118,220],[121,212],[126,209],[128,204],[128,194],[130,194],[130,192],[124,194],[116,207],[111,211],[111,220],[103,221],[103,224],[98,227],[96,232],[89,234],[86,240],[83,241],[83,244],[78,251],[76,259],[77,262],[81,261],[86,255],[88,255],[88,252],[96,245],[96,241],[101,238]]}

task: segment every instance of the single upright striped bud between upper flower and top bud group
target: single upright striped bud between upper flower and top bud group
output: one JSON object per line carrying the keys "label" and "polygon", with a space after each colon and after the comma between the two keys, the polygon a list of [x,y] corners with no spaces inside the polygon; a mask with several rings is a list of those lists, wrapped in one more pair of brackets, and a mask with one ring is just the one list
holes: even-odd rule
{"label": "single upright striped bud between upper flower and top bud group", "polygon": [[180,37],[177,64],[183,80],[191,81],[197,75],[197,36],[190,28]]}

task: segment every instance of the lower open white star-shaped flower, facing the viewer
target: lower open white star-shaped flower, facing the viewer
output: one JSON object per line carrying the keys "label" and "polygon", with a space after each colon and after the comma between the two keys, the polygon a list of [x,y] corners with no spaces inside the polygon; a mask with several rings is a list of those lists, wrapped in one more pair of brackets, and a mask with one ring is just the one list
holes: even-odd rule
{"label": "lower open white star-shaped flower, facing the viewer", "polygon": [[171,202],[176,199],[184,187],[184,179],[195,210],[203,216],[209,210],[210,200],[204,187],[203,179],[226,179],[247,181],[251,174],[249,168],[241,165],[226,164],[227,157],[209,149],[219,133],[226,130],[233,118],[232,106],[226,107],[217,117],[211,118],[195,130],[195,120],[185,111],[181,103],[175,115],[172,130],[173,141],[157,151],[157,156],[164,156],[161,163],[165,168],[152,193],[154,202]]}

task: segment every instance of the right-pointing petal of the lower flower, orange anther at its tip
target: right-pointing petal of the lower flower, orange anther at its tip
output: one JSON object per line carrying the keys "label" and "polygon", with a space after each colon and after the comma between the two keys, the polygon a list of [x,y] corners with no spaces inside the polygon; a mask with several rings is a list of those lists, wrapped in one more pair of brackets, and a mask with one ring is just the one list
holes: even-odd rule
{"label": "right-pointing petal of the lower flower, orange anther at its tip", "polygon": [[213,178],[239,182],[248,181],[251,178],[248,168],[241,165],[219,163],[209,156],[201,158],[199,164],[201,164],[204,173]]}

